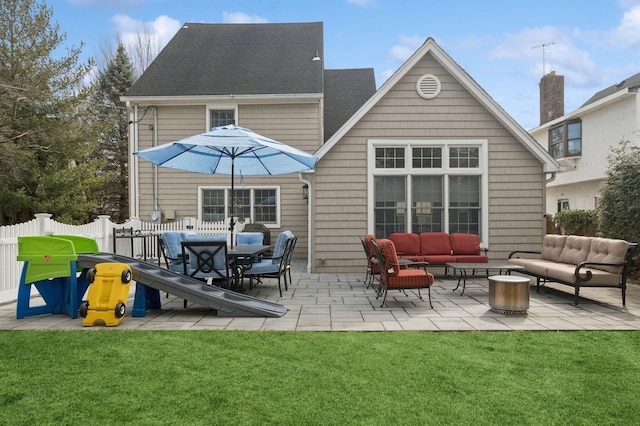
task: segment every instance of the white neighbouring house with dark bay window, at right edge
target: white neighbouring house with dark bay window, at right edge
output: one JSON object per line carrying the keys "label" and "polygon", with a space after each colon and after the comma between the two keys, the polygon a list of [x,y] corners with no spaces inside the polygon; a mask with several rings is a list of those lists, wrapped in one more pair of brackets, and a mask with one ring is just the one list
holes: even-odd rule
{"label": "white neighbouring house with dark bay window, at right edge", "polygon": [[621,141],[640,146],[640,74],[594,94],[577,110],[530,131],[565,167],[547,184],[546,211],[598,207],[608,156]]}

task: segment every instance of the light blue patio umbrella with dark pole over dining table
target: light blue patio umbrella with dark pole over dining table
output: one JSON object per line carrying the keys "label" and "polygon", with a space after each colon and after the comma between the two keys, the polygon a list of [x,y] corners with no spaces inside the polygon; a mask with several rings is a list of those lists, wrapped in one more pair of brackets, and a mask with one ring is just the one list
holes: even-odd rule
{"label": "light blue patio umbrella with dark pole over dining table", "polygon": [[242,176],[282,175],[313,170],[318,157],[236,125],[214,127],[142,151],[140,158],[188,172],[231,175],[231,244],[233,246],[233,180]]}

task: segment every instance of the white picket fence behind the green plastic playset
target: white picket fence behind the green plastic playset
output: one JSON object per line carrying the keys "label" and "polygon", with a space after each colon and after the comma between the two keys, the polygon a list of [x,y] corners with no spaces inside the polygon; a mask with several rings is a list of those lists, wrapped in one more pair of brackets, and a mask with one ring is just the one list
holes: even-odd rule
{"label": "white picket fence behind the green plastic playset", "polygon": [[[164,231],[191,230],[203,235],[227,235],[230,238],[227,221],[202,222],[195,218],[185,218],[170,223],[155,224],[132,218],[117,224],[109,216],[99,216],[93,223],[66,225],[51,219],[48,213],[39,213],[29,222],[0,226],[0,303],[16,300],[23,262],[18,262],[18,237],[34,235],[80,235],[93,238],[101,252],[118,253],[125,256],[157,260],[157,235]],[[245,223],[236,223],[235,232],[241,232]]]}

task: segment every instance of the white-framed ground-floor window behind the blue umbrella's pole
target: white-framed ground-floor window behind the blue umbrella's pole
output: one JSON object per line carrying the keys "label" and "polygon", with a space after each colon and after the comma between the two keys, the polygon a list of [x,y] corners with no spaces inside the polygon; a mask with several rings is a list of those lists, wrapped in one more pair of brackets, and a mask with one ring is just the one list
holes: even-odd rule
{"label": "white-framed ground-floor window behind the blue umbrella's pole", "polygon": [[[233,216],[238,219],[250,217],[253,223],[280,226],[280,188],[242,187],[234,188]],[[198,211],[200,220],[217,222],[224,220],[225,212],[231,209],[231,189],[216,186],[198,188]]]}

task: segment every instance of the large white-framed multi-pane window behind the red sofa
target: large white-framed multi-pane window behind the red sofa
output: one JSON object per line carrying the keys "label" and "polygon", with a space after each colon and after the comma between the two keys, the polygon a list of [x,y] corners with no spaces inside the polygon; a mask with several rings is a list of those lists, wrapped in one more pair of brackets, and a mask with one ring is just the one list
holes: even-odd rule
{"label": "large white-framed multi-pane window behind the red sofa", "polygon": [[466,232],[488,227],[487,141],[370,140],[369,223],[392,232]]}

